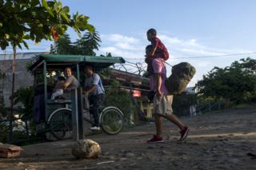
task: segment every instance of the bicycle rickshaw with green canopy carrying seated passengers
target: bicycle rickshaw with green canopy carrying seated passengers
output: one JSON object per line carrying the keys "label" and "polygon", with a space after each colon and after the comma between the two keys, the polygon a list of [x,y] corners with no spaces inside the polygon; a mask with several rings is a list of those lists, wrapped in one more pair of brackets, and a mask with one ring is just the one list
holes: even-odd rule
{"label": "bicycle rickshaw with green canopy carrying seated passengers", "polygon": [[[72,102],[74,100],[50,100],[50,77],[61,73],[66,67],[73,69],[81,87],[81,71],[86,65],[92,65],[95,71],[106,69],[115,63],[124,63],[122,57],[95,57],[82,55],[40,54],[34,58],[30,70],[34,75],[34,121],[36,131],[51,134],[55,140],[72,134]],[[115,120],[114,120],[115,119]],[[86,120],[88,121],[88,119]],[[123,113],[113,106],[106,107],[100,114],[101,128],[107,134],[117,134],[122,130]],[[52,136],[46,136],[52,140]]]}

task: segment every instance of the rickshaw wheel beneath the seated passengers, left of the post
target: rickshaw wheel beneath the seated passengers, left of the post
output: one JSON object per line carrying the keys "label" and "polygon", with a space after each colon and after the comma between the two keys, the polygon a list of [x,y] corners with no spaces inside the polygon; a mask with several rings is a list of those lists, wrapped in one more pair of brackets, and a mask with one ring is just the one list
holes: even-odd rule
{"label": "rickshaw wheel beneath the seated passengers, left of the post", "polygon": [[70,109],[58,109],[48,119],[51,134],[58,140],[72,136],[72,113]]}

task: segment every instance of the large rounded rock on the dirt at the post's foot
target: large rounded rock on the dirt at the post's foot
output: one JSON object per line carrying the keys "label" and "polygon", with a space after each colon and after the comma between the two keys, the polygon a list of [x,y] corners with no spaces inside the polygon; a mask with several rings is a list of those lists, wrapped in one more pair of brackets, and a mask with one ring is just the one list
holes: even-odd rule
{"label": "large rounded rock on the dirt at the post's foot", "polygon": [[94,140],[78,140],[72,148],[72,155],[78,159],[98,158],[101,152],[99,144]]}

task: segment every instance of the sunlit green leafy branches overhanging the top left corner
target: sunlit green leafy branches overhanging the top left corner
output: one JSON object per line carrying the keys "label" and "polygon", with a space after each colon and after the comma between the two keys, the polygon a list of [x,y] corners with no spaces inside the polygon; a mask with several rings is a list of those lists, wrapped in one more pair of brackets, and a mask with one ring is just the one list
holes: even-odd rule
{"label": "sunlit green leafy branches overhanging the top left corner", "polygon": [[94,31],[88,23],[89,17],[82,14],[70,15],[68,6],[62,2],[46,0],[0,0],[0,46],[12,45],[28,49],[27,40],[41,42],[42,39],[58,40],[68,26],[79,35],[81,31]]}

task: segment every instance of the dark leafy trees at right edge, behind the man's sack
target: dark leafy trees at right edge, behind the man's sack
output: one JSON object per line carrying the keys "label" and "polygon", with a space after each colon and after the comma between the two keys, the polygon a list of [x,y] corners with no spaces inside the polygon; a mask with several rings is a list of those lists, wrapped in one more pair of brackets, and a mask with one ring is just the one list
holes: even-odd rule
{"label": "dark leafy trees at right edge, behind the man's sack", "polygon": [[256,94],[256,60],[248,57],[224,69],[214,67],[198,81],[196,88],[203,97],[226,99],[236,104],[248,101]]}

